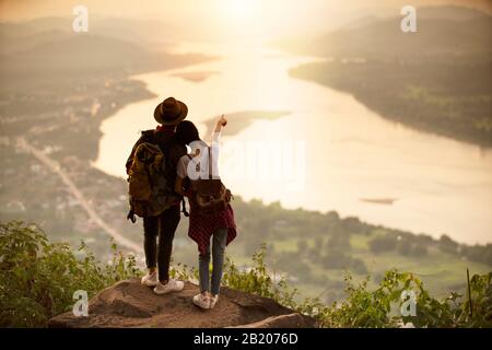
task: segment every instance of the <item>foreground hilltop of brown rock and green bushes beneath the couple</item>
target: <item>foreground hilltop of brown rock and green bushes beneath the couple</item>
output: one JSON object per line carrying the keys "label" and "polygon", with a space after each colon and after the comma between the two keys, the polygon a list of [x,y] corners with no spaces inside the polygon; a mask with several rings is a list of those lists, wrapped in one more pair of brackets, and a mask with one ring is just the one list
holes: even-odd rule
{"label": "foreground hilltop of brown rock and green bushes beneath the couple", "polygon": [[[387,270],[375,287],[367,279],[345,278],[343,299],[331,305],[302,299],[290,282],[265,262],[265,252],[253,256],[247,269],[227,259],[221,299],[215,308],[198,310],[197,270],[171,267],[169,276],[183,281],[178,293],[155,295],[140,283],[143,271],[133,255],[113,244],[113,258],[94,258],[83,245],[77,252],[51,243],[35,224],[0,223],[1,327],[490,327],[492,272],[467,279],[469,294],[450,291],[435,299],[413,272]],[[401,312],[402,292],[413,291],[415,310]],[[75,291],[91,298],[87,316],[74,316]],[[471,298],[472,304],[469,303]],[[80,299],[79,299],[80,301]],[[80,308],[79,308],[80,311]]]}

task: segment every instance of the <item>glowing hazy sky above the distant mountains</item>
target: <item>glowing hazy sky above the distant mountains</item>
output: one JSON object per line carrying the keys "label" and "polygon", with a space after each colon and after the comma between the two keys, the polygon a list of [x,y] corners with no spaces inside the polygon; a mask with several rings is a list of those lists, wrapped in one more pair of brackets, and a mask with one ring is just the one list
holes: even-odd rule
{"label": "glowing hazy sky above the distant mountains", "polygon": [[317,32],[367,14],[396,15],[405,4],[443,3],[478,7],[492,12],[492,0],[0,0],[0,20],[19,21],[72,15],[77,4],[90,14],[155,19],[190,28],[266,35]]}

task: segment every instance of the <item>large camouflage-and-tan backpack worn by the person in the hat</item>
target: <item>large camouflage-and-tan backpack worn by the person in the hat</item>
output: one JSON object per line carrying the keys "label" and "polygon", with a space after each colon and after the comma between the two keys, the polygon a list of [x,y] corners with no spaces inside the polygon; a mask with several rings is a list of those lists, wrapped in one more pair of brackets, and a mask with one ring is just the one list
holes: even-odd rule
{"label": "large camouflage-and-tan backpack worn by the person in the hat", "polygon": [[140,143],[133,154],[128,172],[130,212],[128,219],[134,222],[134,214],[155,217],[169,208],[169,195],[165,176],[165,161],[161,149],[152,143]]}

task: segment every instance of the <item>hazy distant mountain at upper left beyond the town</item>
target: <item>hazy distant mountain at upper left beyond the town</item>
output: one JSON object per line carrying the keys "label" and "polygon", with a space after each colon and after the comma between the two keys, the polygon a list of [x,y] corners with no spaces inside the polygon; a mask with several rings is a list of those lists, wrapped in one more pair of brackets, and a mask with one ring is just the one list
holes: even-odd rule
{"label": "hazy distant mountain at upper left beyond the town", "polygon": [[15,47],[26,49],[0,57],[1,78],[131,74],[207,59],[202,55],[149,51],[132,42],[92,34],[67,34],[58,31],[48,33],[48,36],[38,34],[17,39]]}

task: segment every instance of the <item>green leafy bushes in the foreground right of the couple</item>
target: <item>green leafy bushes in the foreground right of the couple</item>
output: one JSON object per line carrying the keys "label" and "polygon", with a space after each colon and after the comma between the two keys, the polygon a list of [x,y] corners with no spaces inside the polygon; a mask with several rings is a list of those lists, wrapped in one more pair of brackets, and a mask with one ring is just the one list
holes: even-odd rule
{"label": "green leafy bushes in the foreground right of the couple", "polygon": [[[367,288],[370,277],[359,285],[345,276],[345,300],[330,306],[318,299],[296,302],[296,289],[283,278],[277,279],[265,265],[265,245],[253,257],[253,267],[239,270],[227,259],[224,284],[247,293],[271,298],[282,305],[315,317],[321,327],[401,327],[412,323],[415,327],[492,327],[492,272],[475,275],[470,280],[472,314],[467,298],[452,292],[444,300],[432,298],[422,281],[411,272],[390,270],[376,290]],[[401,305],[401,292],[415,293],[415,316],[393,314]]]}

